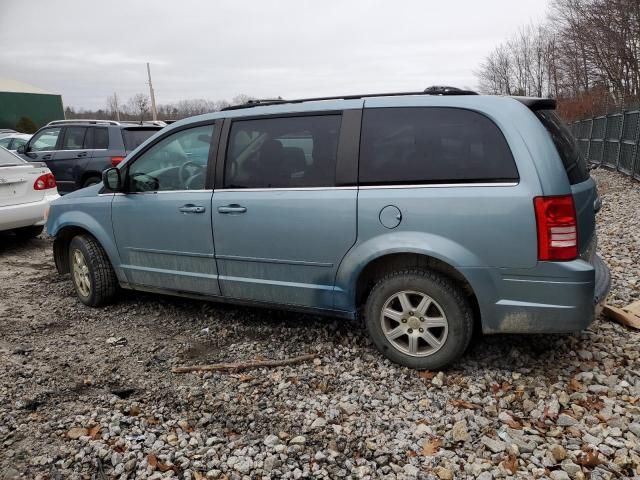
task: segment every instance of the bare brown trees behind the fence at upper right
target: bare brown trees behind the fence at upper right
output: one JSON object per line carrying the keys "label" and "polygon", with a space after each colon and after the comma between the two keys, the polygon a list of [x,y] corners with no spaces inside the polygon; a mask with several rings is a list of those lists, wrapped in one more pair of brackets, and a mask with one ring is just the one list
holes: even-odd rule
{"label": "bare brown trees behind the fence at upper right", "polygon": [[557,98],[575,117],[637,101],[639,54],[640,1],[552,0],[545,22],[520,28],[476,75],[483,93]]}

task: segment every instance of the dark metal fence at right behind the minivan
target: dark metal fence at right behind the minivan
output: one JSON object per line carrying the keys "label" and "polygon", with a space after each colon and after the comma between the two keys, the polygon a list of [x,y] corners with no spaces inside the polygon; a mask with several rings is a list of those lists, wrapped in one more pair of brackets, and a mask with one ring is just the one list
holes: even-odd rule
{"label": "dark metal fence at right behind the minivan", "polygon": [[570,124],[585,158],[640,180],[640,109]]}

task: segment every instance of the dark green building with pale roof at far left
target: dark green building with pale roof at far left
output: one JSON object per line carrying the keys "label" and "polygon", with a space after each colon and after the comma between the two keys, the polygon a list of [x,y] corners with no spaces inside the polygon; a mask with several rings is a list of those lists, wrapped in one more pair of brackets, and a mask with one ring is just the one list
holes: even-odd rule
{"label": "dark green building with pale roof at far left", "polygon": [[38,87],[0,78],[0,128],[16,128],[28,117],[39,128],[51,120],[64,119],[62,97]]}

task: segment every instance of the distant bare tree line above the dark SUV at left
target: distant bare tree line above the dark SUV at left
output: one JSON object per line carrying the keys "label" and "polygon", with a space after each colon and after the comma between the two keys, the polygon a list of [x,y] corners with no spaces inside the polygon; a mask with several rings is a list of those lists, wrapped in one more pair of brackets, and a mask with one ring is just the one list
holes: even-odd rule
{"label": "distant bare tree line above the dark SUV at left", "polygon": [[[223,108],[240,105],[253,100],[255,97],[240,94],[227,100],[206,100],[202,98],[180,100],[173,103],[158,104],[158,120],[180,120],[181,118],[202,115],[204,113],[217,112]],[[107,98],[104,108],[96,110],[65,108],[65,118],[68,119],[94,119],[94,120],[151,120],[151,100],[145,93],[137,93],[122,102],[117,93]]]}

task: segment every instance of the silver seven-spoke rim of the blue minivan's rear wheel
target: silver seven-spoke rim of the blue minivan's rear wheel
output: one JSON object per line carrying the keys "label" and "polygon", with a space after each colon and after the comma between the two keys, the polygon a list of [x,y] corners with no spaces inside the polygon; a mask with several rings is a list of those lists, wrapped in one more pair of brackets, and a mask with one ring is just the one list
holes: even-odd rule
{"label": "silver seven-spoke rim of the blue minivan's rear wheel", "polygon": [[449,323],[442,307],[429,295],[404,290],[384,303],[382,332],[397,350],[413,357],[427,357],[442,348]]}

